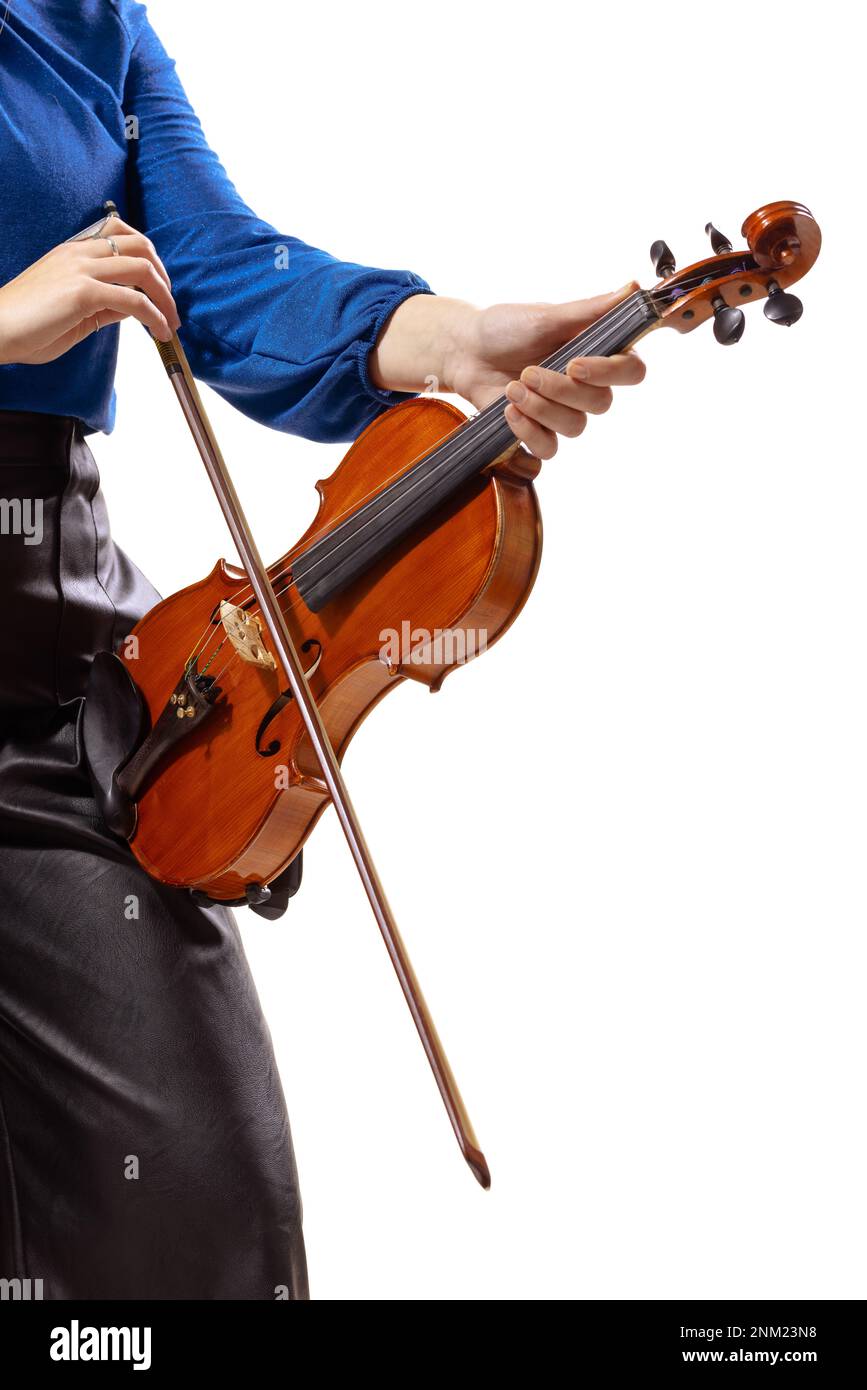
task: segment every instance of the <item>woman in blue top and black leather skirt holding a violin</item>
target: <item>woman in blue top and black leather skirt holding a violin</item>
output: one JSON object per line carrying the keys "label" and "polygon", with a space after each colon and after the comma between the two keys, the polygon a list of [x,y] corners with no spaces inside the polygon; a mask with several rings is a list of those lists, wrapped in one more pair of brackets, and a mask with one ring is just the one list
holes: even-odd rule
{"label": "woman in blue top and black leather skirt holding a violin", "polygon": [[[306,1298],[235,922],[139,869],[82,763],[89,662],[157,599],[111,542],[85,442],[114,424],[114,325],[179,327],[201,381],[314,439],[354,438],[432,375],[478,407],[507,389],[514,434],[550,457],[643,367],[527,364],[634,286],[478,310],[270,227],[133,0],[11,0],[0,81],[0,1277],[47,1298]],[[61,245],[106,199],[121,217]]]}

